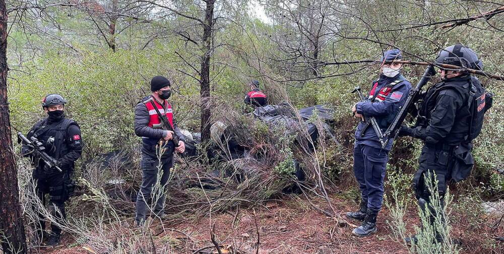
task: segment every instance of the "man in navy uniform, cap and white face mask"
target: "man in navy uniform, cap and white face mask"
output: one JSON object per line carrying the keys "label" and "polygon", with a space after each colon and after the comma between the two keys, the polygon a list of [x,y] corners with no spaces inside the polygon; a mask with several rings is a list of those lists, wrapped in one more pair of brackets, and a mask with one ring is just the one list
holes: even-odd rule
{"label": "man in navy uniform, cap and white face mask", "polygon": [[[388,50],[381,58],[382,61],[399,59],[402,59],[399,49]],[[395,62],[382,65],[380,78],[373,81],[368,100],[353,106],[355,117],[374,116],[382,132],[385,132],[411,90],[410,82],[401,75],[401,67]],[[362,225],[353,230],[353,234],[358,236],[377,231],[376,216],[382,208],[385,171],[392,148],[390,140],[382,149],[374,130],[365,126],[365,122],[357,126],[354,146],[353,168],[361,192],[360,209],[346,214],[348,218],[362,221]]]}

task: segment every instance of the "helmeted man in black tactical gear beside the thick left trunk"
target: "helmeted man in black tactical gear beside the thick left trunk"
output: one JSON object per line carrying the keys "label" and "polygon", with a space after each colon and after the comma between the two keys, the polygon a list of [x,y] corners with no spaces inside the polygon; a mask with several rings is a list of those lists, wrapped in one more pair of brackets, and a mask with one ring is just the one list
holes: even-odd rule
{"label": "helmeted man in black tactical gear beside the thick left trunk", "polygon": [[[51,168],[45,165],[40,158],[32,156],[30,147],[22,147],[22,154],[33,159],[35,169],[32,176],[36,184],[37,196],[45,206],[45,195],[49,194],[48,210],[58,223],[63,223],[66,218],[65,201],[73,193],[75,182],[72,180],[72,174],[75,161],[81,157],[82,153],[81,129],[77,122],[65,118],[65,103],[67,101],[59,94],[47,95],[42,100],[42,108],[48,116],[35,123],[27,135],[28,139],[35,137],[42,142],[44,151],[56,159],[56,166],[62,172],[59,172],[56,167]],[[39,221],[33,222],[39,242],[44,241],[45,238],[45,222],[41,214],[39,214]],[[61,228],[51,223],[47,245],[57,245],[60,234]]]}

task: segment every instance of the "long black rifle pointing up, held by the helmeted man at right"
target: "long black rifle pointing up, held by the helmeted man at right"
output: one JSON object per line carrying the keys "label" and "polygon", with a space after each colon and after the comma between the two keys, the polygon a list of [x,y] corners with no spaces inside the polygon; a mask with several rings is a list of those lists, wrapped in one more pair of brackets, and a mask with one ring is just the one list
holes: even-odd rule
{"label": "long black rifle pointing up, held by the helmeted man at right", "polygon": [[413,103],[415,102],[415,98],[417,95],[420,93],[422,87],[429,82],[430,78],[434,76],[435,70],[434,66],[430,65],[425,69],[425,72],[423,73],[422,78],[418,82],[415,88],[411,89],[408,98],[406,98],[406,102],[404,102],[404,105],[401,107],[401,110],[399,110],[399,113],[397,113],[396,117],[390,124],[389,128],[387,131],[385,131],[382,139],[385,141],[382,144],[382,149],[385,148],[386,144],[390,139],[396,138],[399,132],[399,128],[401,128],[401,125],[403,124],[404,119],[406,118],[406,115],[408,114],[408,109]]}

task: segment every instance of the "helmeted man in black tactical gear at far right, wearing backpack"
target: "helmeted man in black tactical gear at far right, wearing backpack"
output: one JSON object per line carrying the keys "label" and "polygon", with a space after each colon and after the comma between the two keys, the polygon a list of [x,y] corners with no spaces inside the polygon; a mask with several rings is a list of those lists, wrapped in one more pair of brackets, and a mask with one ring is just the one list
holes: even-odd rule
{"label": "helmeted man in black tactical gear at far right, wearing backpack", "polygon": [[[462,69],[483,69],[476,53],[461,44],[443,49],[435,61]],[[448,182],[465,179],[472,169],[472,140],[481,132],[483,114],[491,106],[491,100],[488,100],[491,96],[476,77],[464,71],[440,69],[438,72],[442,82],[430,87],[424,94],[416,126],[402,126],[399,132],[400,136],[411,136],[424,142],[413,186],[418,204],[428,212],[432,226],[437,215],[426,182],[433,183],[435,175],[443,206]],[[444,221],[444,218],[441,219]],[[437,241],[445,240],[439,229],[435,232]],[[406,239],[408,242],[412,240],[416,242],[418,239],[416,236]]]}

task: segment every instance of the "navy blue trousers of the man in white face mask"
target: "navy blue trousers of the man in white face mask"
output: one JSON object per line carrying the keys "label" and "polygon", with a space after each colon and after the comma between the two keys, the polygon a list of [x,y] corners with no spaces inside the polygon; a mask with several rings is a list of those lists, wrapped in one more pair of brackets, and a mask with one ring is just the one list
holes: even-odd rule
{"label": "navy blue trousers of the man in white face mask", "polygon": [[362,202],[367,209],[378,212],[382,208],[384,178],[389,160],[388,151],[363,144],[353,149],[353,171],[359,183]]}

